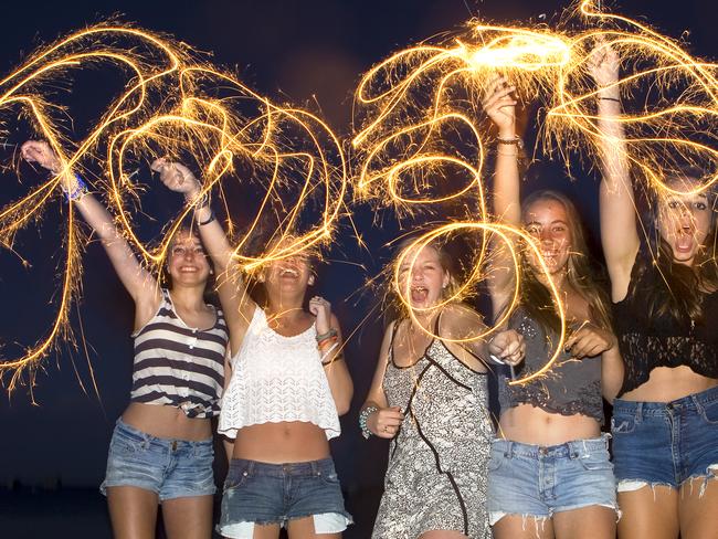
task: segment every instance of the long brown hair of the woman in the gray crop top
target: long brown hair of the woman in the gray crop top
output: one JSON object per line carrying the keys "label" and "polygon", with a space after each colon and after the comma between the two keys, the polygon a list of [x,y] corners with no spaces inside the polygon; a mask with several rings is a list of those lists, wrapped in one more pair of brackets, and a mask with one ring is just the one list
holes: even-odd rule
{"label": "long brown hair of the woman in the gray crop top", "polygon": [[[558,202],[566,209],[568,228],[571,233],[571,251],[567,262],[567,281],[589,304],[589,313],[595,324],[602,328],[611,328],[611,315],[609,311],[609,296],[604,287],[599,285],[599,278],[594,271],[595,263],[589,255],[585,243],[585,234],[581,226],[579,212],[573,202],[566,195],[550,190],[541,190],[531,193],[521,203],[521,214],[535,202],[548,200]],[[550,290],[536,276],[534,270],[526,261],[526,249],[522,250],[520,264],[520,300],[521,307],[534,318],[545,331],[559,332],[561,320],[553,305]]]}

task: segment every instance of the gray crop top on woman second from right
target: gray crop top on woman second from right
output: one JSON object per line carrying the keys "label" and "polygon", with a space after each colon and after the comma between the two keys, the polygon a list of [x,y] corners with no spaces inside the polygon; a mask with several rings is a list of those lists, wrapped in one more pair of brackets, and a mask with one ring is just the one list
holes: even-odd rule
{"label": "gray crop top on woman second from right", "polygon": [[[516,378],[541,369],[558,345],[558,335],[546,335],[541,326],[520,308],[511,315],[508,326],[521,334],[526,341],[526,359],[515,368]],[[576,359],[562,351],[543,377],[517,385],[508,382],[506,377],[498,377],[501,411],[518,404],[532,404],[549,413],[580,413],[603,424],[601,356]]]}

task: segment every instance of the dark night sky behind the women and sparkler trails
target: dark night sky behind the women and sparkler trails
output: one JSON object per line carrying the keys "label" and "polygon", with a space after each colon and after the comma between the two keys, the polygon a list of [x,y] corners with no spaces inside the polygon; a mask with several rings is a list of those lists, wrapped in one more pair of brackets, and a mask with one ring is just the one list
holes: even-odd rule
{"label": "dark night sky behind the women and sparkler trails", "polygon": [[[684,38],[694,54],[717,55],[716,13],[708,12],[711,2],[622,3],[616,10],[643,17],[671,36],[689,32]],[[498,23],[528,23],[546,14],[550,21],[566,6],[545,0],[3,2],[0,70],[4,76],[39,44],[119,14],[123,21],[167,32],[201,51],[213,52],[214,62],[236,66],[243,80],[258,93],[277,102],[308,106],[346,139],[351,125],[351,96],[361,73],[390,53],[454,30],[472,15]],[[102,70],[93,76],[98,85],[104,84]],[[89,110],[102,109],[102,104],[92,97],[83,98],[83,103]],[[13,134],[12,125],[2,127],[9,131],[10,146],[0,147],[0,160],[9,162],[14,151],[12,145],[22,140]],[[78,131],[83,128],[75,127]],[[546,167],[545,172],[535,175],[542,178],[535,184],[559,186],[573,197],[595,236],[593,175],[585,173],[569,183],[560,167]],[[17,195],[17,181],[9,172],[1,173],[1,181],[7,186],[0,191],[0,203],[4,204]],[[18,254],[0,252],[0,342],[7,356],[17,353],[19,346],[34,342],[49,327],[52,309],[47,303],[53,299],[61,253],[56,207],[52,204],[36,229],[31,226],[18,235]],[[335,262],[321,272],[318,290],[335,304],[345,334],[353,330],[363,314],[376,305],[376,294],[351,295],[390,256],[384,244],[397,231],[390,216],[382,230],[372,228],[372,214],[366,207],[359,207],[356,215],[371,254],[356,247],[347,223],[342,223],[337,245],[327,255]],[[23,268],[19,255],[32,265],[31,270]],[[347,262],[360,262],[366,271]],[[128,402],[133,306],[101,245],[88,247],[84,265],[78,314],[99,398],[92,388],[83,350],[47,358],[45,371],[36,378],[36,405],[31,403],[27,387],[0,400],[0,484],[13,478],[23,483],[62,478],[63,485],[94,486],[102,480],[112,427]],[[349,296],[351,299],[345,302]],[[332,448],[348,488],[376,484],[383,473],[377,461],[383,458],[383,443],[365,443],[356,426],[357,409],[368,390],[381,338],[382,325],[377,318],[355,336],[347,351],[355,379],[355,405]],[[73,327],[80,335],[77,311],[73,315]]]}

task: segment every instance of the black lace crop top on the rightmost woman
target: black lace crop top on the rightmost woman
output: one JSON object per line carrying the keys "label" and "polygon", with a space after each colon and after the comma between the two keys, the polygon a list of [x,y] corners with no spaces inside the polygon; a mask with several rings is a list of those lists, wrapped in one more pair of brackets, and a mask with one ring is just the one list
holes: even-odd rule
{"label": "black lace crop top on the rightmost woman", "polygon": [[704,297],[704,323],[679,324],[666,316],[651,319],[645,298],[658,279],[658,268],[638,253],[626,297],[613,304],[613,321],[625,363],[619,397],[648,381],[657,367],[687,366],[708,378],[718,378],[718,293]]}

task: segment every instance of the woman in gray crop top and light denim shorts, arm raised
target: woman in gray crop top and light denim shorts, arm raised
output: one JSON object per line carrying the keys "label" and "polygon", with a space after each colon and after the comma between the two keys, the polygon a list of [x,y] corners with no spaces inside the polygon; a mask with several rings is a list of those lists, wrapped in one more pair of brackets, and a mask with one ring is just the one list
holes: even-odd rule
{"label": "woman in gray crop top and light denim shorts, arm raised", "polygon": [[527,342],[517,378],[541,369],[559,344],[561,323],[549,284],[561,297],[569,338],[543,376],[524,384],[499,376],[499,431],[488,464],[489,518],[497,539],[612,539],[617,507],[608,437],[601,434],[601,394],[612,399],[617,392],[621,357],[608,300],[591,278],[576,208],[551,191],[519,203],[514,91],[499,77],[484,99],[499,137],[494,212],[535,237],[548,274],[534,251],[525,249],[515,277],[506,247],[496,244],[489,281],[494,313],[516,307],[514,278],[520,279],[519,305],[509,319]]}

